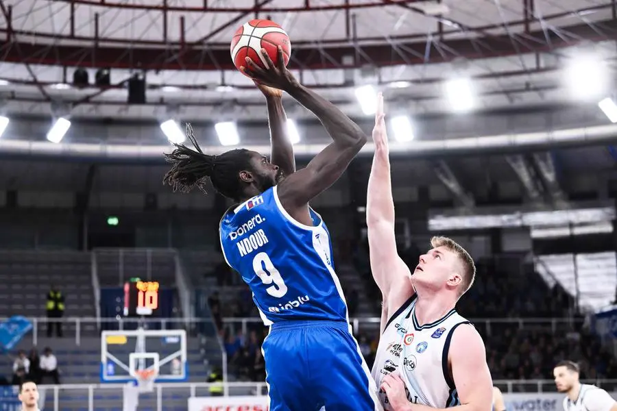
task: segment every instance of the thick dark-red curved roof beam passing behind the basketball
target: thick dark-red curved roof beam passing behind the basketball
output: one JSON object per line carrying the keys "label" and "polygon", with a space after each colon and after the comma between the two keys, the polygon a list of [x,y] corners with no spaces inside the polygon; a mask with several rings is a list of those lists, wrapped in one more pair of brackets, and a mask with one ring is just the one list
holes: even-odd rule
{"label": "thick dark-red curved roof beam passing behind the basketball", "polygon": [[[602,22],[598,22],[602,23]],[[608,27],[612,26],[612,21],[606,22]],[[2,47],[4,62],[22,62],[27,64],[62,64],[63,66],[83,66],[83,67],[106,67],[142,70],[233,70],[234,65],[229,57],[229,46],[227,44],[205,45],[209,58],[204,57],[204,45],[199,44],[198,48],[186,45],[182,49],[180,45],[163,43],[161,41],[142,41],[136,45],[136,40],[107,39],[100,38],[99,42],[106,44],[116,43],[115,47],[80,47],[72,45],[62,45],[62,40],[82,40],[93,41],[92,38],[79,36],[60,36],[56,34],[45,34],[35,32],[23,32],[8,28],[1,28],[0,33],[12,30],[11,40],[4,42]],[[457,31],[455,31],[457,32]],[[448,33],[446,33],[448,34]],[[576,25],[568,27],[568,34],[572,38],[587,41],[598,40],[617,40],[617,27],[606,30],[604,35],[598,34],[590,25]],[[36,36],[40,42],[36,44],[27,41],[19,41],[19,36]],[[513,43],[509,36],[491,36],[483,38],[479,51],[479,43],[474,38],[457,38],[443,40],[439,42],[439,47],[457,51],[457,55],[437,53],[431,56],[431,63],[449,62],[455,58],[487,58],[516,55],[517,53],[542,53],[551,51],[559,47],[571,47],[574,41],[571,38],[562,38],[555,32],[549,32],[548,38],[544,32],[531,32],[526,34],[525,42]],[[45,38],[54,42],[45,44]],[[424,64],[424,52],[426,34],[412,36],[390,36],[389,45],[364,45],[363,41],[373,42],[384,41],[383,36],[372,39],[358,39],[363,53],[355,62],[356,66],[364,64],[374,64],[376,66],[391,66],[398,64]],[[342,44],[341,44],[342,43]],[[126,45],[132,45],[130,52],[127,52]],[[313,51],[315,42],[302,43],[295,42],[292,60],[289,64],[291,69],[336,69],[343,61],[343,56],[355,55],[356,46],[350,45],[345,39],[321,40],[319,41],[319,51]],[[515,47],[516,45],[516,47]],[[144,47],[149,46],[149,47]],[[157,47],[158,46],[158,47]],[[311,46],[311,47],[309,47]],[[396,51],[393,49],[396,47]],[[18,52],[18,49],[21,53]],[[327,53],[330,58],[322,58],[322,53]]]}

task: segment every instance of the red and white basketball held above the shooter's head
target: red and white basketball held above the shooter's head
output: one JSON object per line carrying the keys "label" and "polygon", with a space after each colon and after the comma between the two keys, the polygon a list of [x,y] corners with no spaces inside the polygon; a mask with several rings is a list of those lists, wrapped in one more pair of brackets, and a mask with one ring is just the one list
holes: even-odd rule
{"label": "red and white basketball held above the shooter's head", "polygon": [[245,58],[250,57],[258,66],[265,67],[259,50],[265,49],[274,64],[278,64],[277,47],[282,47],[285,66],[291,54],[289,36],[274,21],[257,18],[244,23],[237,29],[231,42],[231,58],[237,69],[246,66]]}

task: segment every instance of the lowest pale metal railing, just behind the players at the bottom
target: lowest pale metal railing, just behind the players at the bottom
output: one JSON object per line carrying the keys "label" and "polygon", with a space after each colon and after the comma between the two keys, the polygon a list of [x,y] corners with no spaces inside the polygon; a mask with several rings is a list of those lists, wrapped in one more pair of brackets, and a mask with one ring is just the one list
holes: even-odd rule
{"label": "lowest pale metal railing, just behind the players at the bottom", "polygon": [[[584,384],[594,384],[599,388],[607,390],[612,393],[617,388],[616,379],[598,379],[582,381]],[[538,380],[494,380],[493,384],[498,386],[504,394],[516,394],[516,393],[555,393],[555,382],[552,379],[538,379]],[[150,399],[156,401],[156,410],[163,410],[163,395],[166,392],[173,391],[174,396],[186,395],[186,400],[189,397],[208,397],[208,390],[211,386],[217,384],[208,383],[174,383],[174,384],[154,384],[153,395],[142,395],[144,400]],[[122,384],[65,384],[60,386],[42,385],[39,386],[39,391],[42,397],[47,397],[51,394],[53,398],[53,411],[60,410],[60,401],[64,395],[84,395],[86,394],[87,409],[93,411],[95,409],[94,399],[97,396],[97,401],[110,401],[104,398],[105,391],[110,395],[115,395],[122,391]],[[524,389],[521,389],[524,388]],[[267,395],[267,387],[264,382],[233,382],[223,384],[224,395],[233,397],[236,395]],[[51,391],[51,393],[49,393]],[[565,396],[565,395],[564,395]],[[49,397],[48,397],[49,398]],[[50,398],[50,399],[51,399]],[[140,399],[140,402],[143,401]],[[116,400],[116,401],[121,401]],[[169,401],[169,399],[166,399]],[[184,401],[179,398],[178,401]],[[85,403],[84,403],[85,406]]]}

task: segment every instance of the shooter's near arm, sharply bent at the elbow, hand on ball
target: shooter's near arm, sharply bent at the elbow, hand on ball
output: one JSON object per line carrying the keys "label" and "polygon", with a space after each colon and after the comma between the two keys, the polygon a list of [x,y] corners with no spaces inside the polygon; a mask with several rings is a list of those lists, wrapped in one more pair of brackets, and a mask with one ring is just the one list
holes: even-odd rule
{"label": "shooter's near arm, sharply bent at the elbow, hand on ball", "polygon": [[305,169],[296,171],[278,187],[278,196],[285,210],[294,218],[300,217],[301,222],[307,222],[309,200],[341,177],[351,160],[366,144],[367,138],[362,129],[330,101],[298,83],[285,67],[280,47],[278,66],[274,66],[266,53],[263,53],[263,57],[267,69],[261,69],[247,58],[247,68],[243,69],[245,73],[261,84],[284,90],[311,110],[334,140],[315,155]]}

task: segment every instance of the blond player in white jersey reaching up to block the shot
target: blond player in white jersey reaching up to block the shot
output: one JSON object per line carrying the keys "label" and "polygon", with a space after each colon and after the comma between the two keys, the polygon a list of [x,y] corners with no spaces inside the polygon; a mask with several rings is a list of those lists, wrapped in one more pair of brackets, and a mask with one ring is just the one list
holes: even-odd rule
{"label": "blond player in white jersey reaching up to block the shot", "polygon": [[385,409],[397,411],[490,410],[492,379],[484,343],[455,310],[473,283],[474,262],[450,238],[434,237],[433,249],[410,273],[396,251],[383,106],[373,140],[367,226],[371,269],[383,295],[382,335],[372,370],[380,400]]}

